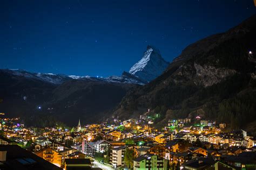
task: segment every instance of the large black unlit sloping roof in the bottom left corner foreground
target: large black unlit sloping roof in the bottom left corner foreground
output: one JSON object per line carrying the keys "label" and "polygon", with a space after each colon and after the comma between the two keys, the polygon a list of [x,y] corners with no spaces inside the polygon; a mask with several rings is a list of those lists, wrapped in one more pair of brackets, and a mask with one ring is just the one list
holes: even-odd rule
{"label": "large black unlit sloping roof in the bottom left corner foreground", "polygon": [[6,161],[1,161],[0,169],[62,169],[18,145],[0,145],[0,151],[7,151]]}

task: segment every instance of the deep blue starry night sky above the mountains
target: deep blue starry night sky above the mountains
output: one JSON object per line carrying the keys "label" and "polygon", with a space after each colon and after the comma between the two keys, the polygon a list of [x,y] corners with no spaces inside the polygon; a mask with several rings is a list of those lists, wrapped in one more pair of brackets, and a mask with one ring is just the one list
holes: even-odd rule
{"label": "deep blue starry night sky above the mountains", "polygon": [[167,61],[255,13],[253,0],[0,1],[0,68],[120,75],[148,44]]}

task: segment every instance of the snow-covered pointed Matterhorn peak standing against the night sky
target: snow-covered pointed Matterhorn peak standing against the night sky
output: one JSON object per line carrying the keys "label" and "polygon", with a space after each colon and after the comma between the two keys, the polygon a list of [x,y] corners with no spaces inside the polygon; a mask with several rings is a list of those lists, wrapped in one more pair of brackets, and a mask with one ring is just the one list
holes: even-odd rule
{"label": "snow-covered pointed Matterhorn peak standing against the night sky", "polygon": [[159,49],[148,45],[142,59],[131,67],[129,73],[143,81],[150,82],[161,75],[168,65],[169,62],[161,57]]}

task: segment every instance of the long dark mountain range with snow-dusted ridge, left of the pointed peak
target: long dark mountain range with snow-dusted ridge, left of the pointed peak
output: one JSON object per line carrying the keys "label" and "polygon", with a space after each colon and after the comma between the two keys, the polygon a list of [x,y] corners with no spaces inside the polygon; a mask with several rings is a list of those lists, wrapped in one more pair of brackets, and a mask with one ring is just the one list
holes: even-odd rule
{"label": "long dark mountain range with snow-dusted ridge, left of the pointed peak", "polygon": [[[100,78],[0,69],[0,112],[21,117],[26,125],[48,126],[57,121],[73,126],[104,121],[132,87],[139,85]],[[50,81],[49,81],[50,80]],[[62,83],[55,83],[62,82]]]}

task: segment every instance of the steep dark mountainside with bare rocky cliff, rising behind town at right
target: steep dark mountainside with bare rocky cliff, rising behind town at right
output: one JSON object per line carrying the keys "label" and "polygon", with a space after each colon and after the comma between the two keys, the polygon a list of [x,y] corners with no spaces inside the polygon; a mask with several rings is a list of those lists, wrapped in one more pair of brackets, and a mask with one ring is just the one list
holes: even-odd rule
{"label": "steep dark mountainside with bare rocky cliff, rising behind town at right", "polygon": [[[256,71],[255,30],[254,15],[227,32],[189,45],[163,74],[144,87],[130,91],[114,115],[136,117],[148,109],[154,112],[161,108],[163,121],[195,115],[197,110],[203,110],[200,114],[206,118],[221,117],[223,112],[219,104],[225,105],[232,100],[242,103],[245,100],[241,98],[256,91],[253,79]],[[252,99],[244,105],[251,103],[249,101]],[[256,109],[255,104],[249,105],[252,110]],[[234,117],[238,115],[234,113],[235,109],[226,109],[225,112],[233,112]]]}

